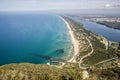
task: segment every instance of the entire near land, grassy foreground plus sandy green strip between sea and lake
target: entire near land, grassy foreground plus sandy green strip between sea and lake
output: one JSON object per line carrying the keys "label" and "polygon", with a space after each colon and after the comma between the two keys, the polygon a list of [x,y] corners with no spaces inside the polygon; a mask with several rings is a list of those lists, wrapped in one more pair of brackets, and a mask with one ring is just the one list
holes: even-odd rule
{"label": "entire near land, grassy foreground plus sandy green strip between sea and lake", "polygon": [[[31,63],[3,65],[0,66],[0,80],[109,80],[120,76],[120,67],[115,63],[118,53],[107,47],[106,39],[86,30],[72,17],[60,18],[69,30],[73,56],[58,66]],[[117,75],[104,75],[106,72]]]}

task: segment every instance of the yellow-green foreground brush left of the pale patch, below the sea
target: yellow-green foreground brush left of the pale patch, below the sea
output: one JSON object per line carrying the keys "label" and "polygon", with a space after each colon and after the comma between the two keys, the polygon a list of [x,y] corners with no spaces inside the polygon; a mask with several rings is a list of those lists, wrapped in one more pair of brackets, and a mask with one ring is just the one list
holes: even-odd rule
{"label": "yellow-green foreground brush left of the pale patch, below the sea", "polygon": [[0,67],[0,80],[79,80],[80,72],[74,66],[60,69],[45,64],[8,64]]}

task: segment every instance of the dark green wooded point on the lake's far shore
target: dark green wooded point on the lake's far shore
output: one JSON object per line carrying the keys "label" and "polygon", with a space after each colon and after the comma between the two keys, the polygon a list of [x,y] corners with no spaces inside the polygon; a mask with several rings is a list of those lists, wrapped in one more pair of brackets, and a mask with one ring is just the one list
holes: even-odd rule
{"label": "dark green wooded point on the lake's far shore", "polygon": [[97,22],[102,25],[106,25],[107,27],[114,28],[114,29],[120,29],[120,22]]}

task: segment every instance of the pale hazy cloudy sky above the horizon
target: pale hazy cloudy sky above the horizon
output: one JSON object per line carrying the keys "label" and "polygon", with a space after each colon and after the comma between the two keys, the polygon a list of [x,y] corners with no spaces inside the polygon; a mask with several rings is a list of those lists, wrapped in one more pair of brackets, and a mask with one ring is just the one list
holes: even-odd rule
{"label": "pale hazy cloudy sky above the horizon", "polygon": [[47,11],[47,10],[120,11],[120,0],[0,0],[0,11]]}

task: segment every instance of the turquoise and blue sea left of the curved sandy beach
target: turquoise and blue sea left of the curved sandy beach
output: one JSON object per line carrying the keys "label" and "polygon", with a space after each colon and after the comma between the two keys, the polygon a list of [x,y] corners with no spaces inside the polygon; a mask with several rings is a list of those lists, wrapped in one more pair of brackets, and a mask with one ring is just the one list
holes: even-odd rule
{"label": "turquoise and blue sea left of the curved sandy beach", "polygon": [[71,49],[68,29],[56,15],[0,14],[0,65],[49,62],[40,55],[66,59]]}

